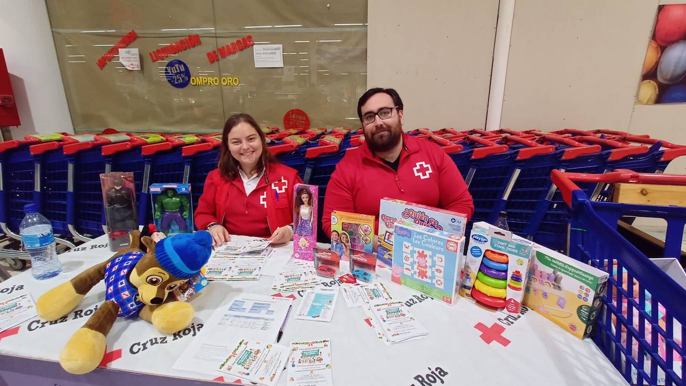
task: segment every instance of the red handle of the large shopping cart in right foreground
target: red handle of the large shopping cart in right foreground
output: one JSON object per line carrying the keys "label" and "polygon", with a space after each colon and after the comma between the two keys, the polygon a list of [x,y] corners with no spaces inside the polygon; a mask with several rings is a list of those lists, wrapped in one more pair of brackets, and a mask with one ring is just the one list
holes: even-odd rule
{"label": "red handle of the large shopping cart in right foreground", "polygon": [[571,208],[571,192],[580,190],[574,182],[596,182],[603,184],[651,184],[651,185],[683,185],[686,186],[686,176],[678,174],[636,173],[626,169],[617,169],[603,174],[565,173],[554,170],[550,173],[553,183],[560,189],[563,200]]}

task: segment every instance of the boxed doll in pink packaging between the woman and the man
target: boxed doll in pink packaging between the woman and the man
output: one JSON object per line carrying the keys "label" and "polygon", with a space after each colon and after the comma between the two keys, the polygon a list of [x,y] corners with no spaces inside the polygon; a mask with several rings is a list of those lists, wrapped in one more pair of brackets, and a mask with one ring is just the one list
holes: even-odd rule
{"label": "boxed doll in pink packaging between the woman and the man", "polygon": [[313,261],[317,245],[317,197],[319,186],[296,184],[293,206],[293,257]]}

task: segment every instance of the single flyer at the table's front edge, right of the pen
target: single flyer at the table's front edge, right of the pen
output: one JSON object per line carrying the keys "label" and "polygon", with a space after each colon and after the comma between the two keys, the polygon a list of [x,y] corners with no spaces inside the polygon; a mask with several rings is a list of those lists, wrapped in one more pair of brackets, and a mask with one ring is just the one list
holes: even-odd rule
{"label": "single flyer at the table's front edge, right of the pen", "polygon": [[331,340],[291,343],[288,386],[331,386]]}

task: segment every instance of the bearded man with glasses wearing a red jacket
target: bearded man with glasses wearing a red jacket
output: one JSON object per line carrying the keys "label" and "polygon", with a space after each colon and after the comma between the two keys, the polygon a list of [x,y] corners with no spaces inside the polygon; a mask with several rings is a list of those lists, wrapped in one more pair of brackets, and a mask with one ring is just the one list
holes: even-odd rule
{"label": "bearded man with glasses wearing a red jacket", "polygon": [[331,211],[375,216],[383,197],[464,213],[472,197],[455,163],[438,145],[403,133],[403,101],[392,88],[371,88],[357,102],[364,144],[336,165],[324,198],[322,226],[331,234]]}

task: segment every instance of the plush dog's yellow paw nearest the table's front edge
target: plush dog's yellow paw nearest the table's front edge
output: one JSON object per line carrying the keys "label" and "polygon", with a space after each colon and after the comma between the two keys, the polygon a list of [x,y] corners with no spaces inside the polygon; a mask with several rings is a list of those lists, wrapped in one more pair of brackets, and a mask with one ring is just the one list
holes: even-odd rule
{"label": "plush dog's yellow paw nearest the table's front edge", "polygon": [[60,365],[71,374],[92,372],[105,355],[105,335],[79,328],[60,352]]}

